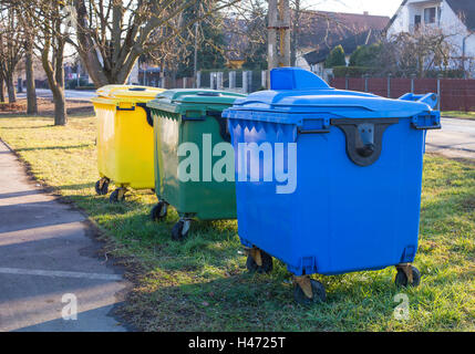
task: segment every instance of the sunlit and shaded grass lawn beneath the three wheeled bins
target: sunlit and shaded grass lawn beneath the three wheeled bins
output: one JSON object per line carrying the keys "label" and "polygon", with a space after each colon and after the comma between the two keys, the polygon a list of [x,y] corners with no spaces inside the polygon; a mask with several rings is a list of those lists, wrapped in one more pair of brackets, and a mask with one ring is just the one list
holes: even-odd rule
{"label": "sunlit and shaded grass lawn beneath the three wheeled bins", "polygon": [[[114,253],[143,266],[122,313],[145,331],[475,331],[475,165],[427,155],[421,242],[415,266],[422,284],[397,289],[395,270],[317,278],[327,303],[293,302],[291,277],[275,262],[269,275],[248,274],[236,221],[195,222],[190,237],[173,242],[165,222],[148,219],[152,192],[121,205],[96,196],[95,121],[0,118],[0,137],[32,173],[83,208],[110,237]],[[113,186],[112,186],[113,188]],[[395,320],[394,296],[405,293],[410,317]]]}

